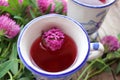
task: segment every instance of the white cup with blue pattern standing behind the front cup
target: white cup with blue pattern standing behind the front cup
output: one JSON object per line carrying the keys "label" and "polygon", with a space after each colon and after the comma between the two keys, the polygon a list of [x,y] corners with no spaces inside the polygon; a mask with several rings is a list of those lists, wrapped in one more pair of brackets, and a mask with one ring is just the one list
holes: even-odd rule
{"label": "white cup with blue pattern standing behind the front cup", "polygon": [[79,21],[91,35],[100,28],[110,6],[115,1],[107,0],[107,3],[102,5],[91,5],[80,0],[68,0],[67,16]]}

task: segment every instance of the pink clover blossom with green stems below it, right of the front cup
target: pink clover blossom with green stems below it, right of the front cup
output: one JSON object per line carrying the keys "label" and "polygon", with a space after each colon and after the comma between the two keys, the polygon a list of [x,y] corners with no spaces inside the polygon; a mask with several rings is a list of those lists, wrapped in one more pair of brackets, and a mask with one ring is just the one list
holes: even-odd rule
{"label": "pink clover blossom with green stems below it, right of the front cup", "polygon": [[[109,71],[116,76],[120,74],[120,34],[117,37],[104,36],[100,41],[105,47],[105,54],[100,58],[89,61],[77,80],[89,80],[105,71]],[[114,64],[116,66],[112,68]]]}

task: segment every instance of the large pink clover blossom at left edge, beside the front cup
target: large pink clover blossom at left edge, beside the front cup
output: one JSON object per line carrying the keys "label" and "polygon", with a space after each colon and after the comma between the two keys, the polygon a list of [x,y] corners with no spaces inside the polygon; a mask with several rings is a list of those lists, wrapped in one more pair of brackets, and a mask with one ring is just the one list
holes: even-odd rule
{"label": "large pink clover blossom at left edge, beside the front cup", "polygon": [[20,32],[20,27],[8,16],[2,15],[0,16],[0,32],[8,38],[13,38]]}

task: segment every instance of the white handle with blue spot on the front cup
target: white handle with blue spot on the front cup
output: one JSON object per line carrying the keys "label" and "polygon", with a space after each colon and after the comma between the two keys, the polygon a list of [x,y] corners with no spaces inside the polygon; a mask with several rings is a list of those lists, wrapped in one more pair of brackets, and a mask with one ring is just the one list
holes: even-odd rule
{"label": "white handle with blue spot on the front cup", "polygon": [[103,55],[104,47],[100,42],[90,43],[90,54],[88,61],[98,58]]}

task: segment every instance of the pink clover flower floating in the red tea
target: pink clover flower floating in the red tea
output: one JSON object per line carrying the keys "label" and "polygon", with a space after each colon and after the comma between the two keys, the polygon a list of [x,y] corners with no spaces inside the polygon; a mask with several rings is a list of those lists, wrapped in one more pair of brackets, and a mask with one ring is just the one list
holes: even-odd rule
{"label": "pink clover flower floating in the red tea", "polygon": [[64,41],[64,33],[58,28],[51,28],[43,35],[44,45],[52,51],[61,48]]}

